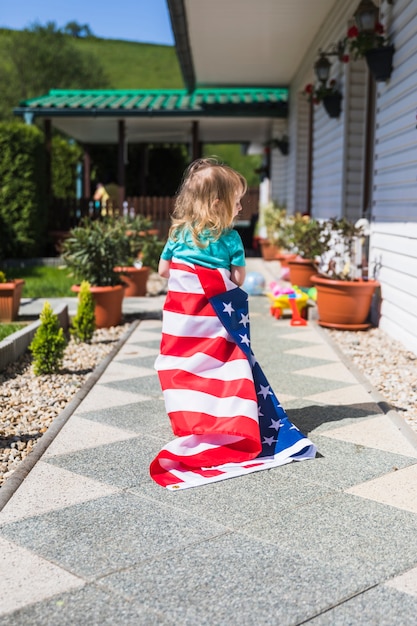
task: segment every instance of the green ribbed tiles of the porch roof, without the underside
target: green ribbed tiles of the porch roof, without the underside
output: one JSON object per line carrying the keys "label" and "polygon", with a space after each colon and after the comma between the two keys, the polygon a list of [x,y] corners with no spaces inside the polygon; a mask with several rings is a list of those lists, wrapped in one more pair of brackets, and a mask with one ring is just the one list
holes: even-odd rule
{"label": "green ribbed tiles of the porch roof, without the underside", "polygon": [[16,115],[35,116],[245,116],[286,117],[288,89],[198,88],[142,90],[61,90],[20,102]]}

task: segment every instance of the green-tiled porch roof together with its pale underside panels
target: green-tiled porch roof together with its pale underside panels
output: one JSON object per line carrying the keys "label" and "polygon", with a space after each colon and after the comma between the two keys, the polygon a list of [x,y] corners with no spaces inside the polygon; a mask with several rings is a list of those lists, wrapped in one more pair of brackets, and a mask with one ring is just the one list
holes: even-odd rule
{"label": "green-tiled porch roof together with its pale underside panels", "polygon": [[52,90],[14,110],[27,122],[50,119],[81,143],[117,143],[119,121],[135,143],[267,141],[272,122],[287,116],[282,88],[186,90]]}

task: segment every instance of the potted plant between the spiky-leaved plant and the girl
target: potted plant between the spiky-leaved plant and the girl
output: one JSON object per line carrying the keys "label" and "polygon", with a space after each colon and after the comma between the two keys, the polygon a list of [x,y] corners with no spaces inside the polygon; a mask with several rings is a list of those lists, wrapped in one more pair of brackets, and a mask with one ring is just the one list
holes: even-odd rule
{"label": "potted plant between the spiky-leaved plant and the girl", "polygon": [[126,297],[145,296],[149,273],[157,270],[164,244],[151,220],[142,215],[123,218],[119,224],[125,237],[120,262],[114,269],[125,284]]}

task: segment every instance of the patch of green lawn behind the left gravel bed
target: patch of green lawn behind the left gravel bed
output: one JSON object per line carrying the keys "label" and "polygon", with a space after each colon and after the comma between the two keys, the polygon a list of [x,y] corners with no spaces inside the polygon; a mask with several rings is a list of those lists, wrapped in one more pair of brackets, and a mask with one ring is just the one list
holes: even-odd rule
{"label": "patch of green lawn behind the left gravel bed", "polygon": [[8,278],[23,278],[23,298],[75,297],[71,291],[74,279],[66,268],[33,266],[7,268]]}

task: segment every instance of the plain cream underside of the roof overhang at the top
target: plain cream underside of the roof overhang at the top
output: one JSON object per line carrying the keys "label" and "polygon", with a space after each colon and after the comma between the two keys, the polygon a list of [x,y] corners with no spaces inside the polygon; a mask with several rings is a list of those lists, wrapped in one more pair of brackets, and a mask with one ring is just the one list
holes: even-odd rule
{"label": "plain cream underside of the roof overhang at the top", "polygon": [[184,81],[289,85],[340,0],[167,0]]}

